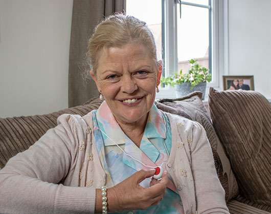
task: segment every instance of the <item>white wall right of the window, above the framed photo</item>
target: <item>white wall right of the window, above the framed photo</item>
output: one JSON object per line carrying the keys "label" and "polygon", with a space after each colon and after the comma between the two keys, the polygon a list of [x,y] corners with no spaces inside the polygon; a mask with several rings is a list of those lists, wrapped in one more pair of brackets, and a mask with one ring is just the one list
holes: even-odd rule
{"label": "white wall right of the window, above the framed photo", "polygon": [[271,1],[229,0],[229,75],[254,75],[271,98]]}

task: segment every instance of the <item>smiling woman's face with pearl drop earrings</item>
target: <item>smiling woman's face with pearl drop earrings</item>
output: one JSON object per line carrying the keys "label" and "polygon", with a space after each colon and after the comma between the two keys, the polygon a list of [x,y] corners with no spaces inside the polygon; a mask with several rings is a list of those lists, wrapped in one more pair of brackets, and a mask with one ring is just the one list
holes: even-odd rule
{"label": "smiling woman's face with pearl drop earrings", "polygon": [[119,123],[146,120],[161,73],[162,65],[157,67],[148,49],[140,44],[105,49],[100,53],[96,76],[91,71]]}

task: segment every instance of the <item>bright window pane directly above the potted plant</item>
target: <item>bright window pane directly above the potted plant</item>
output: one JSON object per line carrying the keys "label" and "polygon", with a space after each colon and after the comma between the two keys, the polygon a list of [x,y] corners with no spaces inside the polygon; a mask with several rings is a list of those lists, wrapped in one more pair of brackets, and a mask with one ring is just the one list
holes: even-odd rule
{"label": "bright window pane directly above the potted plant", "polygon": [[[191,1],[190,1],[191,2]],[[200,2],[200,1],[198,1]],[[182,5],[182,18],[177,8],[178,71],[189,70],[188,60],[198,59],[209,69],[209,9]]]}

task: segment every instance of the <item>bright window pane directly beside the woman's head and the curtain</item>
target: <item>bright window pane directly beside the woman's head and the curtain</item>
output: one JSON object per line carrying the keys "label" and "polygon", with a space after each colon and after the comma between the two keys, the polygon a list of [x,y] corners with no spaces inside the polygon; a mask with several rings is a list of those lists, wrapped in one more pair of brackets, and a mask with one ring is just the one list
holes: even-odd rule
{"label": "bright window pane directly beside the woman's head and the curtain", "polygon": [[147,23],[157,48],[157,59],[162,59],[162,1],[126,0],[126,14]]}

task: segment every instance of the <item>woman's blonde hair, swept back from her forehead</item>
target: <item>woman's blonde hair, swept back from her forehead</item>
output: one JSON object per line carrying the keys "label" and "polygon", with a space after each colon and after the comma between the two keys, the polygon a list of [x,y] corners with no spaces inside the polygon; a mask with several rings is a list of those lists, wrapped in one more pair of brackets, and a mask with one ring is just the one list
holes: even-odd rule
{"label": "woman's blonde hair, swept back from her forehead", "polygon": [[97,25],[88,41],[88,64],[94,74],[96,75],[101,50],[112,47],[121,48],[130,43],[147,47],[150,56],[158,65],[154,37],[146,23],[133,16],[117,13],[106,17]]}

